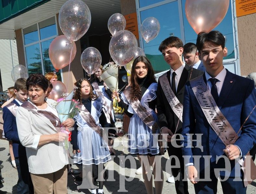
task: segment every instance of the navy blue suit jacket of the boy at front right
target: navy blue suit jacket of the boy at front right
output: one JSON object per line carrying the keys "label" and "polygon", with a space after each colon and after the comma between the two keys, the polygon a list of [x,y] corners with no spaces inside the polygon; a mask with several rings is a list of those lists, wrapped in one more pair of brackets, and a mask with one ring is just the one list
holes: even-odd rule
{"label": "navy blue suit jacket of the boy at front right", "polygon": [[[205,74],[203,76],[205,76]],[[254,82],[247,78],[235,75],[227,70],[217,105],[236,133],[247,116],[250,114],[255,104],[256,90],[254,88]],[[194,95],[194,92],[192,91],[190,82],[187,82],[185,87],[183,106],[183,155],[212,156],[210,163],[206,164],[210,166],[211,170],[213,168],[225,168],[223,158],[219,159],[218,163],[216,164],[216,156],[226,156],[223,151],[223,149],[225,149],[225,145],[207,122],[205,115]],[[238,134],[239,138],[234,143],[234,145],[237,145],[241,149],[243,156],[249,152],[256,142],[255,122],[256,111],[251,114],[243,129]],[[202,134],[201,145],[203,146],[203,151],[194,147],[197,144],[194,141],[192,142],[192,148],[187,147],[188,136],[186,134]],[[193,139],[194,138],[195,137],[193,137]],[[235,160],[228,161],[231,165],[230,177],[235,177]],[[185,161],[185,164],[187,162],[194,163],[193,158],[190,157],[190,160]],[[203,170],[205,168],[205,164],[203,158],[200,158],[199,165],[199,172],[204,173]],[[224,171],[221,171],[220,175],[224,176]]]}

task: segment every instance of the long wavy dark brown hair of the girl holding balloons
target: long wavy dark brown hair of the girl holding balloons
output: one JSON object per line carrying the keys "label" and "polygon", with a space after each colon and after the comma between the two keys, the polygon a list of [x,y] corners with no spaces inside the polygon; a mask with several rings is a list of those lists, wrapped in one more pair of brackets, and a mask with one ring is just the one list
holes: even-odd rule
{"label": "long wavy dark brown hair of the girl holding balloons", "polygon": [[150,63],[150,61],[147,59],[147,57],[144,56],[139,56],[137,57],[134,62],[133,62],[133,66],[132,66],[132,70],[131,70],[131,93],[130,93],[130,97],[131,100],[137,100],[141,98],[141,89],[140,86],[138,84],[138,77],[136,76],[135,73],[135,66],[138,62],[143,62],[146,65],[147,68],[147,83],[151,84],[151,83],[156,83],[156,78],[154,75],[154,70],[153,67]]}

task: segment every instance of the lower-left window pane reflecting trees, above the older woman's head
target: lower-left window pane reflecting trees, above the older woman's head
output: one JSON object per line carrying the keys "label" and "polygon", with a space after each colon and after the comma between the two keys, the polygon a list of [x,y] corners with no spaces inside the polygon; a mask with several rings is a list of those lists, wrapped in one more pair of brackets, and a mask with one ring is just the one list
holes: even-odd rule
{"label": "lower-left window pane reflecting trees, above the older woman's head", "polygon": [[42,73],[39,43],[26,47],[28,73]]}

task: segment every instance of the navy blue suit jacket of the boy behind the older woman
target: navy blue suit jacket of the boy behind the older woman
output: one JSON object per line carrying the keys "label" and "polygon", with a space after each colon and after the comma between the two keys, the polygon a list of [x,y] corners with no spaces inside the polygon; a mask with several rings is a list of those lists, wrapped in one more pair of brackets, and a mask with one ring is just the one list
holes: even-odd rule
{"label": "navy blue suit jacket of the boy behind the older woman", "polygon": [[[19,103],[13,101],[17,106]],[[3,108],[4,132],[8,140],[12,140],[12,149],[14,157],[26,156],[26,148],[21,145],[16,124],[16,117],[9,111],[7,107]]]}

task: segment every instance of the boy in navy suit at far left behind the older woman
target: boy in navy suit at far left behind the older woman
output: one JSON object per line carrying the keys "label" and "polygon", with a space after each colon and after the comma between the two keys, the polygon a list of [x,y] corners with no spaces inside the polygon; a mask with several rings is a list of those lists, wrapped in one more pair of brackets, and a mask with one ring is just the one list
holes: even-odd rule
{"label": "boy in navy suit at far left behind the older woman", "polygon": [[28,169],[26,148],[19,142],[16,124],[16,110],[28,98],[26,80],[24,78],[19,78],[15,82],[14,93],[16,94],[16,99],[3,108],[4,132],[5,137],[12,140],[13,154],[18,170],[17,193],[34,193],[33,184]]}

